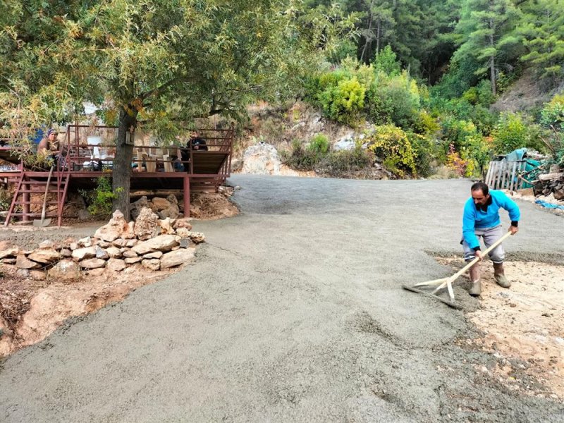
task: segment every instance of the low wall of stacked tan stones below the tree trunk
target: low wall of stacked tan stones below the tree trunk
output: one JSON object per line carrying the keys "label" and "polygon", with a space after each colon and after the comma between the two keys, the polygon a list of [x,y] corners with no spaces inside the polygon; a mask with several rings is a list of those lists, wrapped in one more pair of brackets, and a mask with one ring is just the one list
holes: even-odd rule
{"label": "low wall of stacked tan stones below the tree trunk", "polygon": [[202,243],[202,233],[192,232],[188,219],[159,219],[151,209],[140,210],[135,222],[114,212],[94,237],[66,240],[55,245],[46,240],[35,250],[11,247],[0,251],[0,262],[16,266],[17,274],[42,280],[79,278],[82,272],[99,276],[106,269],[123,271],[133,264],[154,271],[180,266],[194,257],[192,244]]}

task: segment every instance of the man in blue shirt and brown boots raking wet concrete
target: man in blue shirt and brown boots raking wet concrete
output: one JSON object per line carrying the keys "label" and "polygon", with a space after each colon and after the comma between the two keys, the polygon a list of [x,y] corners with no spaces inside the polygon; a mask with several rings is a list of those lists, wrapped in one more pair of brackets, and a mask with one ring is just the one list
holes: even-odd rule
{"label": "man in blue shirt and brown boots raking wet concrete", "polygon": [[[489,247],[503,236],[501,220],[499,219],[499,209],[509,212],[511,226],[509,231],[515,235],[519,231],[518,223],[520,219],[519,207],[513,200],[501,191],[489,190],[488,185],[477,182],[470,188],[472,197],[469,198],[464,206],[462,216],[462,247],[464,248],[464,259],[471,262],[475,257],[482,260],[480,251],[479,237],[484,238],[484,244]],[[503,245],[498,245],[489,252],[491,261],[494,262],[494,278],[499,286],[509,288],[511,283],[505,278],[503,271],[503,259],[505,252]],[[470,268],[470,295],[478,296],[482,293],[482,283],[480,282],[479,262]]]}

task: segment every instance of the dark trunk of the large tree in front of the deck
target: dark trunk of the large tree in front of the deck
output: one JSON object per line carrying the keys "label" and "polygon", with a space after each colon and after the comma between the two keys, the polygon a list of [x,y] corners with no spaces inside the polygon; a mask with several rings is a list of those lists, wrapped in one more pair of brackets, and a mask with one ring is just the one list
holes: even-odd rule
{"label": "dark trunk of the large tree in front of the deck", "polygon": [[[137,111],[133,108],[128,112],[123,107],[119,111],[118,142],[116,145],[116,157],[114,169],[111,173],[112,189],[116,197],[112,202],[112,210],[119,210],[126,220],[129,215],[129,191],[131,179],[131,161],[133,159],[133,135],[135,123],[137,122]],[[128,142],[129,137],[129,142]]]}

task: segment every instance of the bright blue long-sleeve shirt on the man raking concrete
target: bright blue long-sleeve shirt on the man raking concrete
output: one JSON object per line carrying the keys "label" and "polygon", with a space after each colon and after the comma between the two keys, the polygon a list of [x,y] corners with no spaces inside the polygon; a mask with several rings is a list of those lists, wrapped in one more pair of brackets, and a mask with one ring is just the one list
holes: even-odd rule
{"label": "bright blue long-sleeve shirt on the man raking concrete", "polygon": [[479,240],[474,233],[475,229],[493,228],[501,223],[499,219],[499,209],[505,209],[509,212],[509,219],[512,222],[517,222],[520,219],[521,213],[519,207],[513,200],[501,191],[491,190],[491,204],[488,205],[486,212],[482,209],[477,209],[474,204],[474,199],[470,197],[464,205],[464,214],[462,216],[462,237],[470,248],[477,248],[480,246]]}

